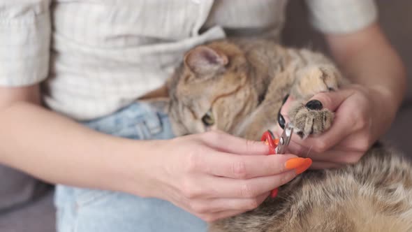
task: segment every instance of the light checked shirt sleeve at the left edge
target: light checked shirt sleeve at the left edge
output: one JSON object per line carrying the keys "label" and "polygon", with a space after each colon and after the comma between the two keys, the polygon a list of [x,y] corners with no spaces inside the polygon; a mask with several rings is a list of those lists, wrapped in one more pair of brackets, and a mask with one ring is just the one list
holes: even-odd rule
{"label": "light checked shirt sleeve at the left edge", "polygon": [[32,85],[47,77],[50,21],[50,0],[0,0],[0,85]]}

